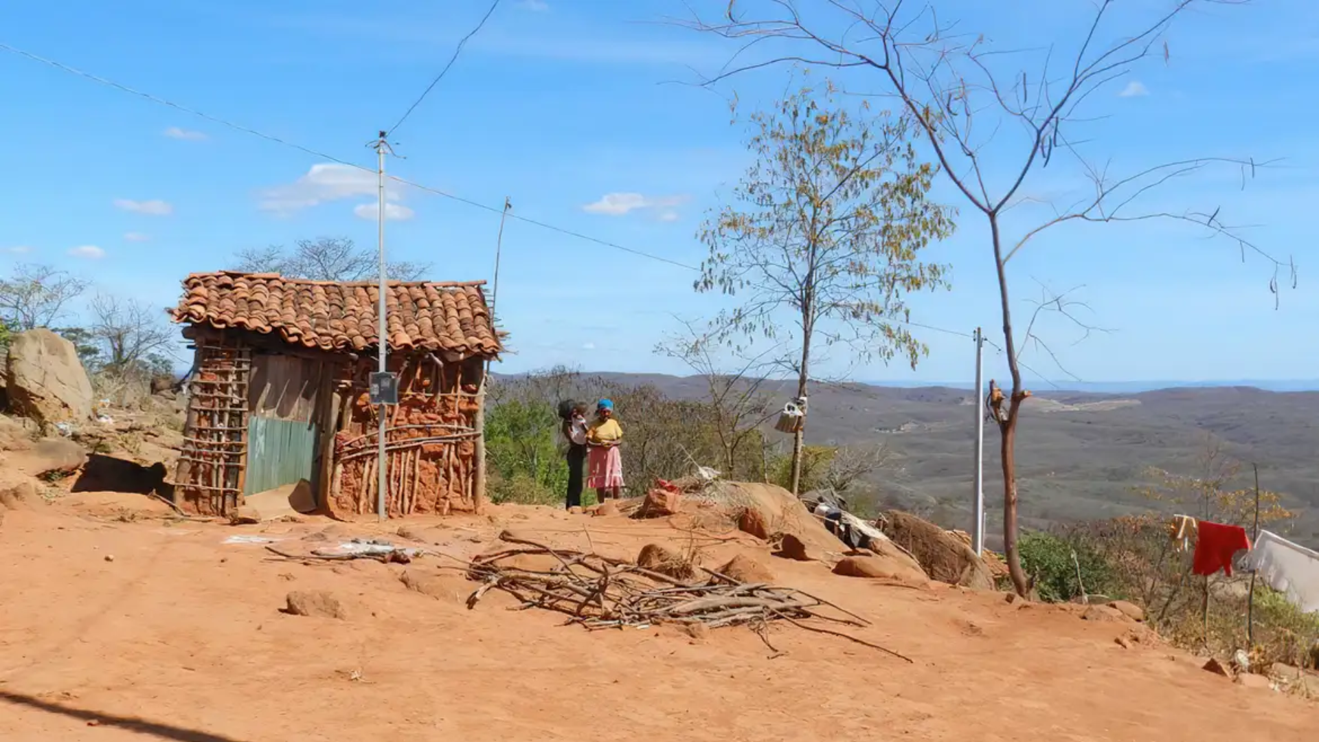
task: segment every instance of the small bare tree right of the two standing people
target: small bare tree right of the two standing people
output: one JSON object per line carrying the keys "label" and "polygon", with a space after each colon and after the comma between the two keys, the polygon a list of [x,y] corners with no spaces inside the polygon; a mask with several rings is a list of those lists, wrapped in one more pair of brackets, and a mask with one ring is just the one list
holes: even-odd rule
{"label": "small bare tree right of the two standing people", "polygon": [[723,458],[719,466],[724,474],[737,477],[739,462],[747,461],[752,449],[753,461],[762,458],[761,425],[777,412],[762,389],[764,363],[780,346],[725,362],[708,333],[691,322],[682,325],[685,333],[656,346],[656,353],[682,360],[706,382],[708,416]]}

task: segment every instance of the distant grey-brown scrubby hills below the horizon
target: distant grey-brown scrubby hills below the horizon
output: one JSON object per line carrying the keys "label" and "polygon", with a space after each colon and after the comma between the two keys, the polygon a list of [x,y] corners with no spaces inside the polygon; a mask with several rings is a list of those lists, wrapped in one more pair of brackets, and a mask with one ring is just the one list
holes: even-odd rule
{"label": "distant grey-brown scrubby hills below the horizon", "polygon": [[[653,384],[675,397],[706,393],[700,378],[599,374]],[[772,389],[782,400],[791,384]],[[1132,491],[1142,470],[1158,466],[1195,475],[1206,433],[1246,463],[1236,486],[1250,486],[1249,463],[1265,489],[1289,495],[1302,511],[1293,535],[1319,543],[1319,391],[1265,391],[1250,386],[1181,386],[1122,393],[1033,388],[1017,440],[1024,524],[1108,518],[1149,510]],[[969,388],[851,384],[819,386],[811,396],[807,440],[820,444],[882,441],[897,453],[874,478],[881,500],[922,511],[948,527],[971,520],[975,401]],[[620,411],[627,420],[627,411]],[[777,433],[774,433],[777,434]],[[785,437],[786,438],[786,437]],[[1001,522],[998,430],[985,425],[985,502],[989,531]]]}

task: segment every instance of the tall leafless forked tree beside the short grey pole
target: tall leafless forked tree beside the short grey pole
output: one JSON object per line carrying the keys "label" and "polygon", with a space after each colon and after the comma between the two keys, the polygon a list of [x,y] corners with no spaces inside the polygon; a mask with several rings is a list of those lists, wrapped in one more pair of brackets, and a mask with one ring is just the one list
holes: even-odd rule
{"label": "tall leafless forked tree beside the short grey pole", "polygon": [[[1042,51],[1039,69],[1005,70],[1016,54],[996,50],[983,36],[952,33],[930,5],[913,8],[902,0],[824,0],[811,4],[809,20],[794,0],[731,0],[723,17],[685,25],[744,42],[735,59],[704,81],[714,84],[731,75],[780,63],[845,69],[867,74],[876,95],[897,99],[917,121],[934,151],[942,173],[984,217],[985,247],[992,250],[998,281],[1002,333],[1012,389],[997,389],[995,420],[1001,433],[1004,478],[1004,547],[1012,580],[1020,593],[1029,589],[1017,553],[1016,438],[1021,404],[1030,396],[1021,380],[1020,353],[1009,302],[1008,261],[1043,231],[1067,222],[1170,220],[1224,236],[1241,252],[1264,257],[1273,268],[1270,289],[1277,294],[1283,268],[1295,271],[1219,218],[1219,209],[1141,211],[1142,197],[1159,186],[1212,166],[1236,168],[1242,181],[1262,164],[1253,158],[1199,157],[1112,176],[1078,151],[1074,128],[1084,123],[1083,108],[1095,92],[1125,77],[1141,61],[1170,57],[1166,32],[1188,8],[1235,5],[1244,0],[1175,0],[1133,32],[1109,29],[1115,0],[1097,0],[1080,38],[1066,53],[1060,44]],[[1101,38],[1116,38],[1103,44]],[[762,44],[769,41],[770,44]],[[769,51],[773,50],[773,51]],[[783,51],[780,54],[780,51]],[[756,54],[768,55],[756,57]],[[1057,63],[1062,59],[1062,63]],[[1008,125],[1004,125],[1008,124]],[[1021,132],[1016,157],[1006,151],[992,158],[988,147],[1000,132]],[[1009,145],[1013,147],[1013,145]],[[1075,158],[1091,181],[1091,194],[1018,235],[1004,234],[1005,211],[1025,198],[1028,178],[1058,154]],[[1025,343],[1028,338],[1021,338]],[[993,384],[991,384],[993,387]]]}

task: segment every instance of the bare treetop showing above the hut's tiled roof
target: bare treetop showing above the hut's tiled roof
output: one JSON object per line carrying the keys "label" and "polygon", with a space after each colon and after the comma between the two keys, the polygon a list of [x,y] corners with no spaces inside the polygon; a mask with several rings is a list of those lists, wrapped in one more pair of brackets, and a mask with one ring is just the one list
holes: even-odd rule
{"label": "bare treetop showing above the hut's tiled roof", "polygon": [[[248,248],[239,251],[237,259],[239,271],[313,281],[367,281],[380,272],[376,252],[359,250],[348,238],[302,239],[291,251],[282,246]],[[415,281],[430,265],[400,261],[385,268],[389,280]]]}

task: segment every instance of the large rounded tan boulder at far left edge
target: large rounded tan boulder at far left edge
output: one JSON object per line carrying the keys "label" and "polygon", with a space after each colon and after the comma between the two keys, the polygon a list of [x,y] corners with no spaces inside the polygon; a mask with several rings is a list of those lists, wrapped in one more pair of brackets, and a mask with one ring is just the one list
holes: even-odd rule
{"label": "large rounded tan boulder at far left edge", "polygon": [[5,392],[12,411],[44,425],[92,417],[91,379],[78,350],[46,329],[11,339]]}

